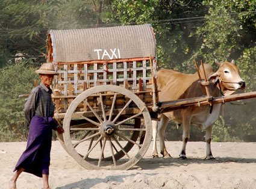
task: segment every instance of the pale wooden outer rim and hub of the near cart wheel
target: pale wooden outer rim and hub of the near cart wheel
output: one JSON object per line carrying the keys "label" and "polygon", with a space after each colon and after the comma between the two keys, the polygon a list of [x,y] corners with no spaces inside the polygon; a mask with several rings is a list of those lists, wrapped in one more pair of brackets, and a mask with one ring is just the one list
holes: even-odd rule
{"label": "pale wooden outer rim and hub of the near cart wheel", "polygon": [[[130,160],[126,161],[126,163],[120,164],[118,166],[96,166],[95,164],[87,162],[83,156],[80,155],[80,153],[76,152],[76,149],[72,143],[72,140],[70,138],[70,121],[72,119],[72,115],[76,110],[76,107],[84,101],[84,99],[87,99],[90,97],[90,95],[95,93],[102,93],[105,91],[110,91],[113,93],[118,93],[125,95],[127,98],[132,99],[134,104],[136,104],[137,108],[140,110],[143,119],[145,121],[145,139],[140,146],[139,151],[130,158]],[[103,110],[102,110],[103,111]],[[142,157],[145,155],[146,151],[148,150],[148,147],[151,143],[151,137],[152,137],[152,123],[151,123],[151,117],[149,114],[148,109],[145,107],[145,103],[142,102],[142,100],[132,93],[130,90],[126,90],[123,87],[119,87],[116,85],[99,85],[96,87],[89,88],[88,90],[84,91],[80,95],[78,95],[70,104],[69,108],[67,109],[66,115],[63,120],[63,128],[64,128],[64,144],[66,146],[67,153],[69,153],[81,166],[85,167],[86,169],[111,169],[111,170],[126,170],[133,167]],[[104,119],[102,123],[100,123],[99,126],[99,133],[102,137],[103,143],[105,145],[108,138],[111,138],[112,135],[117,134],[116,132],[117,128],[112,122],[108,122]],[[137,133],[136,131],[134,133]],[[122,136],[121,136],[122,137]],[[135,137],[136,140],[136,137]],[[110,142],[111,143],[111,142]],[[130,143],[130,140],[129,142]],[[137,144],[137,143],[135,143]],[[132,146],[133,147],[133,146]],[[128,149],[130,150],[130,149]],[[120,153],[123,153],[122,150],[119,151]],[[124,154],[124,153],[123,153]],[[116,154],[115,154],[116,155]],[[101,158],[99,158],[99,161]],[[118,157],[117,157],[118,160]],[[114,161],[114,160],[113,160]]]}

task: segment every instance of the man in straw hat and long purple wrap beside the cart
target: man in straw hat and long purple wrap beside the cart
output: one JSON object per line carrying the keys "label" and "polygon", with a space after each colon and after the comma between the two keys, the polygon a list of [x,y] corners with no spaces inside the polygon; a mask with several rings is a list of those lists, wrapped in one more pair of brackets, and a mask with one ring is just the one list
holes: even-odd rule
{"label": "man in straw hat and long purple wrap beside the cart", "polygon": [[52,63],[44,63],[36,70],[41,79],[40,85],[33,88],[25,103],[25,119],[30,125],[27,148],[22,153],[14,169],[14,176],[9,182],[9,188],[16,188],[16,181],[20,173],[27,172],[43,178],[43,188],[49,188],[49,165],[52,143],[52,129],[58,134],[64,132],[52,117],[54,104],[50,85],[55,72]]}

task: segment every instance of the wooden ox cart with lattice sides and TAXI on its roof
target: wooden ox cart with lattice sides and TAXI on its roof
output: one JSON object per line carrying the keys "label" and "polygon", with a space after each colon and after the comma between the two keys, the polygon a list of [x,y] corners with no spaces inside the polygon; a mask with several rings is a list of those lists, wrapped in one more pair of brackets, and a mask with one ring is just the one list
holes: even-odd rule
{"label": "wooden ox cart with lattice sides and TAXI on its roof", "polygon": [[47,52],[58,72],[52,86],[55,119],[65,131],[58,138],[86,169],[133,167],[148,150],[151,120],[160,112],[226,101],[202,97],[157,107],[151,25],[51,30]]}

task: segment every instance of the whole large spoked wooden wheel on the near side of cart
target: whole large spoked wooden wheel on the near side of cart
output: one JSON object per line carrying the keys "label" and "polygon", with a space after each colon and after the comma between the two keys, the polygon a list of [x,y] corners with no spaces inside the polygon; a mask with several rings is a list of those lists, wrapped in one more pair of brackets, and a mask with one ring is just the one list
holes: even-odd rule
{"label": "whole large spoked wooden wheel on the near side of cart", "polygon": [[[81,104],[84,113],[74,114]],[[145,155],[152,137],[145,103],[130,90],[116,85],[99,85],[78,95],[67,109],[63,128],[67,152],[90,170],[130,169]],[[140,144],[137,139],[142,132],[146,134]]]}

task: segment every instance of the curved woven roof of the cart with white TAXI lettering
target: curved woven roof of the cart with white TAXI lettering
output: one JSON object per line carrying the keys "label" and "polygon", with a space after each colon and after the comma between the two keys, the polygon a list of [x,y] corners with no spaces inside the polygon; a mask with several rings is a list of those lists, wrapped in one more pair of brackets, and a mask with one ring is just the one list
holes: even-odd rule
{"label": "curved woven roof of the cart with white TAXI lettering", "polygon": [[156,56],[151,25],[50,30],[47,39],[48,61],[79,63],[120,61]]}

